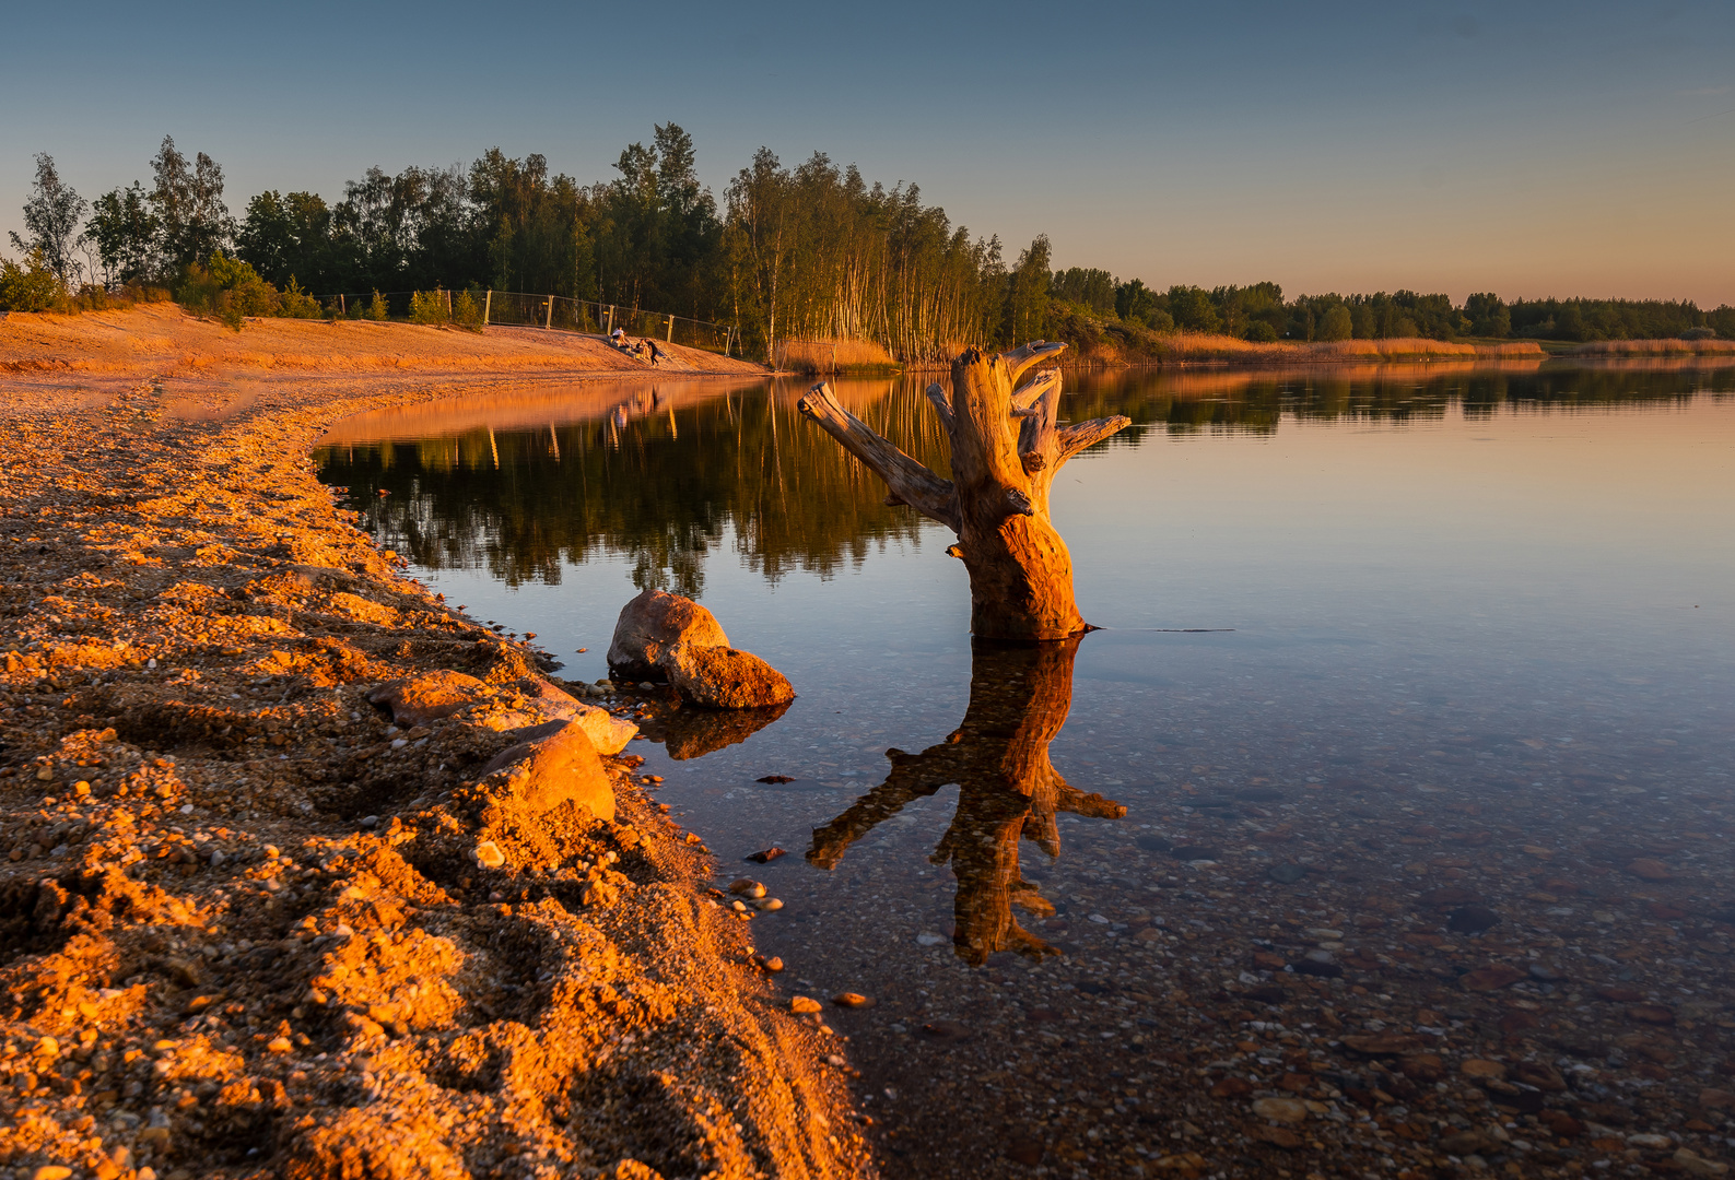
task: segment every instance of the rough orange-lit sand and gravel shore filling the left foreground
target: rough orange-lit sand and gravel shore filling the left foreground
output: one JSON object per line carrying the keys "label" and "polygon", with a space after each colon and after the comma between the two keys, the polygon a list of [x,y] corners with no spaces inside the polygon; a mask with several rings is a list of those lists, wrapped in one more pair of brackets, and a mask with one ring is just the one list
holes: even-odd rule
{"label": "rough orange-lit sand and gravel shore filling the left foreground", "polygon": [[[401,577],[305,459],[432,395],[238,409],[236,371],[0,385],[0,1170],[866,1173],[838,1047],[633,757],[607,823],[477,787],[536,653]],[[429,669],[489,700],[390,735],[368,690]]]}

